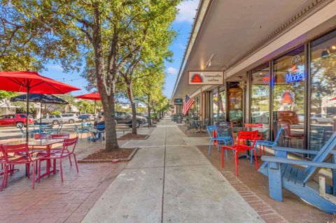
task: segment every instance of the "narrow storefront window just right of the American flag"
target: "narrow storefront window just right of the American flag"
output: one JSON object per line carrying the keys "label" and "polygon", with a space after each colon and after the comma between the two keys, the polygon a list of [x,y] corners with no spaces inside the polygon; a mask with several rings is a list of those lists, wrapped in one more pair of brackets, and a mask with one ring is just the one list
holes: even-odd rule
{"label": "narrow storefront window just right of the American flag", "polygon": [[214,89],[214,122],[218,122],[217,117],[219,114],[219,122],[225,121],[225,89],[224,87]]}

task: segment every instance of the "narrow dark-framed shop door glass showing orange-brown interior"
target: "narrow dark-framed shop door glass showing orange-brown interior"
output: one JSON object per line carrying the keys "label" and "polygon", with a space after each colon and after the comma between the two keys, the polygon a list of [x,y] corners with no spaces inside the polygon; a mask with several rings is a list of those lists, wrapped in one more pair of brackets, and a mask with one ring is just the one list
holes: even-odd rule
{"label": "narrow dark-framed shop door glass showing orange-brown interior", "polygon": [[243,101],[244,91],[239,87],[239,82],[228,83],[228,109],[229,121],[234,126],[241,127],[243,125]]}

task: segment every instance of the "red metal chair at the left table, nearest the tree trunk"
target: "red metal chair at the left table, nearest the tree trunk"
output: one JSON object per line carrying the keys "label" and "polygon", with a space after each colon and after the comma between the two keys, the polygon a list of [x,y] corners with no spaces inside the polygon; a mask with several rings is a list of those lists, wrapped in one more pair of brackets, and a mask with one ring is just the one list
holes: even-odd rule
{"label": "red metal chair at the left table, nearest the tree trunk", "polygon": [[[76,160],[76,154],[74,153],[76,145],[78,141],[78,136],[76,138],[68,138],[64,139],[63,148],[62,150],[59,150],[58,152],[55,152],[53,154],[50,154],[50,157],[45,157],[44,159],[52,159],[54,162],[53,166],[53,172],[56,173],[56,160],[59,159],[59,171],[61,172],[61,179],[63,182],[63,169],[62,169],[62,159],[69,157],[70,164],[71,164],[71,155],[73,155],[73,159],[75,160],[76,169],[78,173],[78,164]],[[72,165],[71,165],[72,166]],[[41,162],[38,166],[38,174],[41,173]],[[38,175],[39,177],[40,175]]]}

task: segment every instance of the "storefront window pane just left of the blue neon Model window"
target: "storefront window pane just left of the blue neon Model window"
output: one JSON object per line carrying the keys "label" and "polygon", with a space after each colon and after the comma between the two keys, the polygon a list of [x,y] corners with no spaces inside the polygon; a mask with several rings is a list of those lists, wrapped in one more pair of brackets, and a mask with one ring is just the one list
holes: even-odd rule
{"label": "storefront window pane just left of the blue neon Model window", "polygon": [[[263,64],[251,71],[251,123],[269,127],[269,66]],[[268,132],[264,138],[268,137]]]}

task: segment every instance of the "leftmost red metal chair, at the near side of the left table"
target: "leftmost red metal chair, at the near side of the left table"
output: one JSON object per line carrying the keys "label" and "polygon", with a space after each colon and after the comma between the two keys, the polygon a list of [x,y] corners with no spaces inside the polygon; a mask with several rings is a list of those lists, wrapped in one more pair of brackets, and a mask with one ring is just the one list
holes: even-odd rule
{"label": "leftmost red metal chair, at the near side of the left table", "polygon": [[[25,164],[27,176],[29,178],[29,166],[30,164],[33,166],[33,176],[32,176],[32,189],[35,187],[35,166],[36,163],[40,163],[41,157],[33,157],[34,154],[31,154],[28,149],[28,144],[18,144],[18,145],[0,145],[0,150],[3,154],[3,161],[4,161],[4,171],[3,171],[3,178],[1,182],[1,191],[3,187],[7,187],[7,180],[8,180],[8,171],[10,172],[10,168],[13,165],[18,164]],[[40,174],[40,173],[38,173]]]}

